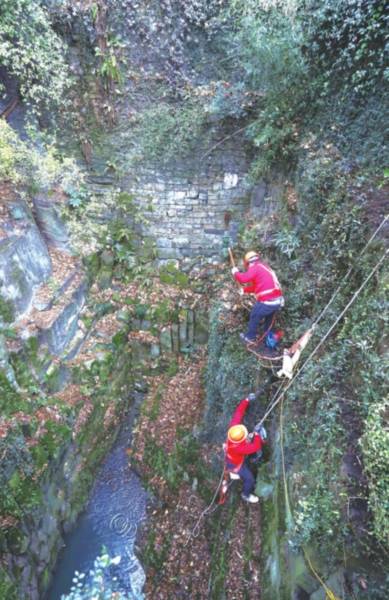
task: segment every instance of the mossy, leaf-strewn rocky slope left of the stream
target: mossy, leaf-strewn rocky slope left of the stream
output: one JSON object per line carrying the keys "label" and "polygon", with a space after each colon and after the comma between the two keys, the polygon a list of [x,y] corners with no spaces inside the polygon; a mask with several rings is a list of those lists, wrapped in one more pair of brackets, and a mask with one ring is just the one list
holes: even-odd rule
{"label": "mossy, leaf-strewn rocky slope left of the stream", "polygon": [[56,199],[38,198],[14,198],[1,221],[0,590],[7,598],[40,598],[47,588],[134,380],[208,337],[196,295],[174,297],[176,277],[186,283],[185,274],[166,271],[158,307],[139,284],[117,278],[108,250],[89,257],[89,267],[72,256]]}

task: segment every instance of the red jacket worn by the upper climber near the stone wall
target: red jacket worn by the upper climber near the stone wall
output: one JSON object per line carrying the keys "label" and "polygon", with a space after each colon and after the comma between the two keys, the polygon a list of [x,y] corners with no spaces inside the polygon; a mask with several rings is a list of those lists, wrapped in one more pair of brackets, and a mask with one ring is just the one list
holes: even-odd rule
{"label": "red jacket worn by the upper climber near the stone wall", "polygon": [[246,294],[255,294],[259,302],[275,300],[282,296],[277,275],[265,263],[256,261],[245,273],[234,273],[234,277],[239,283],[248,283],[243,291]]}

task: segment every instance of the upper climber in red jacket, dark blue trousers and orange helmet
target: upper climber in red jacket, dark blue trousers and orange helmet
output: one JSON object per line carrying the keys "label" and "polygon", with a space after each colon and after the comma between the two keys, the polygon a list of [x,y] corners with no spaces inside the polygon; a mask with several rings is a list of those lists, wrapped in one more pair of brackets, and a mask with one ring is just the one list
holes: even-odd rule
{"label": "upper climber in red jacket, dark blue trousers and orange helmet", "polygon": [[276,274],[260,261],[256,252],[247,252],[244,264],[247,269],[245,273],[240,273],[236,267],[231,272],[235,280],[244,286],[243,293],[255,294],[257,299],[250,313],[247,332],[241,334],[246,343],[253,343],[263,318],[265,333],[270,331],[273,315],[284,306],[284,298]]}

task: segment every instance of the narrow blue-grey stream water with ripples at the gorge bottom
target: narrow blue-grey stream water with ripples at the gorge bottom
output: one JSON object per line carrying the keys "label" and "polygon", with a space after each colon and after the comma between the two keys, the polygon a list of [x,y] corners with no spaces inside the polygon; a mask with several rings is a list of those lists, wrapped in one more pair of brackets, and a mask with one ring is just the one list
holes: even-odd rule
{"label": "narrow blue-grey stream water with ripples at the gorge bottom", "polygon": [[115,590],[126,592],[129,599],[143,598],[145,574],[134,546],[139,524],[146,516],[147,493],[128,466],[126,453],[137,404],[134,403],[101,465],[85,511],[65,536],[65,547],[45,600],[60,600],[68,594],[75,571],[88,574],[95,559],[103,554],[103,547],[110,557],[121,556],[120,563],[110,572],[116,578]]}

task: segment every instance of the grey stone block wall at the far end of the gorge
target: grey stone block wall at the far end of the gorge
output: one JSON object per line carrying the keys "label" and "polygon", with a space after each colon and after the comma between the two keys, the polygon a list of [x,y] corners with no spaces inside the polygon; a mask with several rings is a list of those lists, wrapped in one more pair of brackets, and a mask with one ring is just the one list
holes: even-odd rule
{"label": "grey stone block wall at the far end of the gorge", "polygon": [[219,258],[237,236],[250,206],[245,157],[239,152],[182,161],[163,169],[142,167],[122,182],[134,195],[147,223],[143,233],[155,239],[161,261],[195,256]]}

